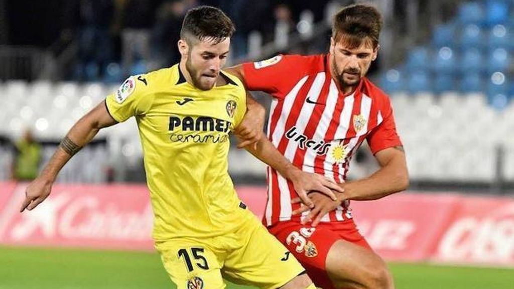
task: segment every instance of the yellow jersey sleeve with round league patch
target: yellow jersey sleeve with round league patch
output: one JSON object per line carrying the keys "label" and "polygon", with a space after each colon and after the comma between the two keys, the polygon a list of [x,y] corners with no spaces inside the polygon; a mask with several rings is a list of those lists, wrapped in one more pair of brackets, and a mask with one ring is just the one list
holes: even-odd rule
{"label": "yellow jersey sleeve with round league patch", "polygon": [[144,114],[151,102],[145,86],[134,76],[127,78],[115,93],[105,99],[109,114],[118,122]]}

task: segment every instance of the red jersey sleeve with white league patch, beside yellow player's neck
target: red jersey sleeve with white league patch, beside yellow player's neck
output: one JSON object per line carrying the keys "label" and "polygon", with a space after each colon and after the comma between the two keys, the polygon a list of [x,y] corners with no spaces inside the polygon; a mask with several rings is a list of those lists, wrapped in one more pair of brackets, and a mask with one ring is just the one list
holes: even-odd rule
{"label": "red jersey sleeve with white league patch, beside yellow player's neck", "polygon": [[284,98],[305,74],[303,64],[299,55],[277,55],[243,63],[246,86],[249,91],[263,91],[275,98]]}

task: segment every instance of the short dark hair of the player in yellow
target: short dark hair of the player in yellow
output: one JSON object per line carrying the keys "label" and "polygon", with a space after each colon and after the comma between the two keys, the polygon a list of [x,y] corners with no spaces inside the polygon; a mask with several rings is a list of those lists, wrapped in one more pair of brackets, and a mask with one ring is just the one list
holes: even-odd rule
{"label": "short dark hair of the player in yellow", "polygon": [[220,9],[212,6],[198,6],[190,9],[182,22],[180,38],[190,42],[191,37],[200,41],[220,43],[231,38],[235,31],[230,18]]}

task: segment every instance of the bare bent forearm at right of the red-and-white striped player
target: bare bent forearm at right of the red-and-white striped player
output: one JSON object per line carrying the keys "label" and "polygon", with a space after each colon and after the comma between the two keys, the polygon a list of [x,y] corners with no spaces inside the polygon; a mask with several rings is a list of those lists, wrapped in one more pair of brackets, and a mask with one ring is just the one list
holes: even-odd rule
{"label": "bare bent forearm at right of the red-and-white striped player", "polygon": [[347,200],[370,201],[406,190],[409,187],[409,174],[405,161],[393,158],[368,178],[341,184]]}

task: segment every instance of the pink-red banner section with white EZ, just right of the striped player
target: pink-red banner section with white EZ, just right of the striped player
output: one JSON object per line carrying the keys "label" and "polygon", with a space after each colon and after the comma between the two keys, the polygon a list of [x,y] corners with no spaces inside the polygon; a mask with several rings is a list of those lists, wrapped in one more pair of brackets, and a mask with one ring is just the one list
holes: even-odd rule
{"label": "pink-red banner section with white EZ, just right of the striped player", "polygon": [[457,195],[398,193],[352,202],[360,233],[387,260],[422,260],[431,254],[452,218]]}

